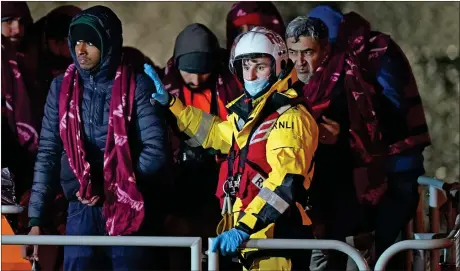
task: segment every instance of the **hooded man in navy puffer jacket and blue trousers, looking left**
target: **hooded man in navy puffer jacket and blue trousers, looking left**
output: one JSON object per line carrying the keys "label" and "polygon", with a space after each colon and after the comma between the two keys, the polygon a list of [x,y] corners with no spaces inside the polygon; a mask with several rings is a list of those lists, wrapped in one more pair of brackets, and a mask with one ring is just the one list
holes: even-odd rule
{"label": "hooded man in navy puffer jacket and blue trousers, looking left", "polygon": [[[108,139],[109,117],[112,116],[109,113],[112,110],[109,109],[112,96],[113,99],[116,97],[114,86],[117,84],[114,82],[119,82],[116,81],[119,76],[116,71],[122,61],[121,22],[107,7],[91,7],[72,19],[68,40],[79,76],[78,82],[83,92],[79,105],[82,125],[81,140],[84,151],[86,151],[83,159],[91,166],[90,183],[94,189],[94,186],[101,186],[104,183],[101,181],[105,176],[104,151]],[[66,75],[61,75],[52,82],[46,101],[29,205],[31,226],[29,234],[41,234],[40,227],[47,223],[44,213],[45,205],[53,195],[53,187],[58,185],[57,178],[60,171],[60,183],[70,202],[67,235],[107,235],[106,219],[102,215],[104,195],[100,194],[102,195],[100,198],[98,196],[85,198],[80,194],[81,180],[76,177],[79,176],[76,175],[78,168],[76,171],[73,170],[75,167],[72,167],[68,158],[72,155],[66,151],[68,145],[65,143],[69,139],[64,141],[60,134],[59,103],[62,102],[60,93],[65,89],[63,85],[68,81],[68,79],[66,81],[66,76],[70,68]],[[136,74],[135,84],[132,118],[128,117],[130,121],[127,139],[131,151],[132,168],[138,189],[144,195],[144,206],[147,209],[149,205],[147,201],[152,197],[153,189],[151,188],[154,185],[152,183],[158,180],[156,175],[164,168],[168,157],[165,150],[165,123],[164,118],[160,116],[161,109],[152,106],[149,102],[150,95],[154,91],[151,80],[144,74]],[[72,102],[69,107],[72,107]],[[115,116],[115,111],[113,114]],[[111,123],[115,123],[114,121],[111,120]],[[64,129],[70,129],[69,122],[64,126],[66,127]],[[78,136],[76,140],[79,140]],[[117,134],[115,134],[115,143],[120,145]],[[77,149],[78,151],[75,152],[80,153],[78,146]],[[116,175],[118,174],[122,174],[119,167],[116,170]],[[107,179],[105,181],[107,182]],[[129,197],[128,199],[131,200]],[[146,210],[145,217],[148,216],[148,213]],[[150,228],[146,223],[147,220],[144,218],[143,226],[134,234],[149,234],[146,232],[146,228]],[[150,255],[146,256],[146,251],[148,250],[143,247],[66,246],[64,248],[64,270],[146,270],[145,261],[151,259],[148,258]],[[36,257],[37,248],[34,249],[33,254]]]}

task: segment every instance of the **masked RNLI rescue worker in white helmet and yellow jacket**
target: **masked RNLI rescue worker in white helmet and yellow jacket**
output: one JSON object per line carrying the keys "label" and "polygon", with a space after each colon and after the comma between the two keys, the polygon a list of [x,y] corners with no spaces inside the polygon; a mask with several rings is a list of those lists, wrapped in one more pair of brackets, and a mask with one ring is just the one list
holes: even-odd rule
{"label": "masked RNLI rescue worker in white helmet and yellow jacket", "polygon": [[[152,99],[169,107],[190,137],[188,144],[228,154],[218,196],[225,198],[224,210],[235,222],[210,248],[223,255],[238,254],[248,239],[307,238],[306,194],[318,144],[316,122],[296,99],[297,76],[281,36],[256,27],[237,37],[232,48],[231,70],[244,84],[244,94],[227,105],[226,120],[184,105],[146,65],[158,90]],[[239,259],[248,270],[291,270],[290,253],[244,249]]]}

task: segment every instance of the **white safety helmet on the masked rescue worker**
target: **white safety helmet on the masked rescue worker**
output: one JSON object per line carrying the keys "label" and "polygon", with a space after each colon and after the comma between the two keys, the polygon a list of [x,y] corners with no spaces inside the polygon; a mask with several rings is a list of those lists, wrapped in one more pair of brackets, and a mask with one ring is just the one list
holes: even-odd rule
{"label": "white safety helmet on the masked rescue worker", "polygon": [[276,78],[286,68],[289,60],[283,38],[276,32],[257,26],[236,37],[230,54],[230,71],[241,80],[241,60],[261,55],[273,58]]}

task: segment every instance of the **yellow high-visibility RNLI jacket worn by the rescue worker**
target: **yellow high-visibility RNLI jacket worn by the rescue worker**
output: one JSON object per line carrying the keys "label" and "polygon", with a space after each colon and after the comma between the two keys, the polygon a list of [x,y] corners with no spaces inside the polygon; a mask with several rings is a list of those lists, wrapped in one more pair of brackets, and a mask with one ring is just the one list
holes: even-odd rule
{"label": "yellow high-visibility RNLI jacket worn by the rescue worker", "polygon": [[[240,148],[245,146],[268,97],[274,92],[285,95],[290,99],[298,97],[297,92],[289,88],[289,85],[297,80],[297,74],[292,69],[286,77],[273,84],[266,94],[254,100],[252,112],[241,130],[238,129],[236,124],[240,116],[234,112],[228,116],[226,121],[223,121],[219,117],[207,114],[198,108],[184,106],[180,100],[174,98],[170,102],[170,110],[177,118],[179,129],[190,137],[186,141],[187,144],[191,146],[201,145],[204,148],[214,148],[222,153],[228,153],[232,146],[233,135]],[[245,96],[242,95],[235,99],[227,105],[227,108],[231,108],[233,104],[242,98],[245,98]],[[277,122],[293,123],[293,125],[289,129],[272,129],[267,138],[266,159],[272,170],[268,178],[263,182],[262,189],[265,193],[268,189],[270,193],[275,194],[275,197],[276,193],[274,191],[276,188],[281,185],[287,185],[283,181],[288,174],[302,176],[303,187],[308,190],[314,173],[312,159],[318,146],[318,126],[305,106],[298,104],[291,107],[279,116]],[[258,217],[258,213],[270,202],[267,202],[264,197],[259,195],[245,208],[244,215],[238,220],[235,219],[235,227],[249,231],[251,238],[273,238],[275,221],[260,221],[261,217]],[[289,204],[299,210],[303,225],[311,224],[304,207],[295,201]],[[240,208],[241,200],[237,199],[233,207],[233,211],[236,213],[235,218],[239,217]],[[279,217],[281,215],[280,213],[277,216],[271,215],[270,217]],[[257,229],[255,228],[256,224],[258,225]],[[264,228],[259,229],[260,225],[263,225]]]}

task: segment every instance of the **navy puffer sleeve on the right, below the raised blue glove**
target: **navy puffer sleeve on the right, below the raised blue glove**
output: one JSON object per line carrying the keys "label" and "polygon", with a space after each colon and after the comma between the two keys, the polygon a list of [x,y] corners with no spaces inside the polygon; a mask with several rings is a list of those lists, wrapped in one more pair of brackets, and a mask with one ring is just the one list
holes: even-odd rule
{"label": "navy puffer sleeve on the right, below the raised blue glove", "polygon": [[136,133],[141,144],[137,173],[149,177],[158,173],[166,163],[166,123],[161,106],[150,104],[155,86],[146,75],[137,77]]}

